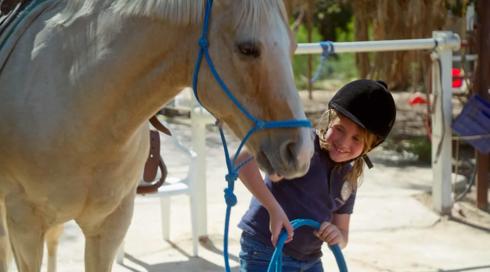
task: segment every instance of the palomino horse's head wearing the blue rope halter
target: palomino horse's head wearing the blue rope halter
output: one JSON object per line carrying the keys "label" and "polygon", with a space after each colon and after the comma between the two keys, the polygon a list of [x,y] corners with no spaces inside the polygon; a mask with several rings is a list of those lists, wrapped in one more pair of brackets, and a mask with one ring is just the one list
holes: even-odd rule
{"label": "palomino horse's head wearing the blue rope halter", "polygon": [[[209,56],[236,103],[201,64],[197,96],[203,105],[239,138],[255,124],[237,104],[266,122],[306,119],[291,69],[296,44],[282,1],[221,0],[212,14]],[[260,130],[247,147],[267,173],[300,176],[313,152],[311,129]]]}

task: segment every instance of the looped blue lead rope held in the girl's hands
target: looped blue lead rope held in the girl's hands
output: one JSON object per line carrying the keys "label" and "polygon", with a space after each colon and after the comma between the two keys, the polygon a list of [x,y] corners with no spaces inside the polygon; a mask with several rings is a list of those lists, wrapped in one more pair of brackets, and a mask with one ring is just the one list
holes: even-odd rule
{"label": "looped blue lead rope held in the girl's hands", "polygon": [[[294,229],[300,228],[302,226],[309,226],[314,229],[320,228],[320,223],[311,219],[295,219],[291,221],[291,225]],[[272,254],[271,262],[269,263],[269,268],[267,269],[267,272],[282,272],[282,249],[284,247],[284,242],[286,241],[287,237],[287,231],[283,230],[277,240],[276,249]],[[339,271],[347,272],[347,264],[345,263],[344,255],[342,254],[339,245],[333,245],[329,247],[335,257],[335,260],[337,261]]]}

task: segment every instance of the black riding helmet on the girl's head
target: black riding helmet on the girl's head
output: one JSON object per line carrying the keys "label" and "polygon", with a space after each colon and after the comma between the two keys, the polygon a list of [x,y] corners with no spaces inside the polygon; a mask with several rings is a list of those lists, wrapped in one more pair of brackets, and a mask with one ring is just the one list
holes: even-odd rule
{"label": "black riding helmet on the girl's head", "polygon": [[[380,80],[359,79],[342,87],[328,107],[378,136],[373,148],[381,144],[395,123],[396,106],[388,86]],[[372,167],[367,156],[364,157]]]}

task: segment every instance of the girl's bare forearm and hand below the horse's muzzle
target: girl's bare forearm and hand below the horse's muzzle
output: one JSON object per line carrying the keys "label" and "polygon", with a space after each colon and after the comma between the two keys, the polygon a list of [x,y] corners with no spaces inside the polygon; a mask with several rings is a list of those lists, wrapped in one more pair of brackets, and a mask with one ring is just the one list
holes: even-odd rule
{"label": "girl's bare forearm and hand below the horse's muzzle", "polygon": [[[236,163],[239,164],[242,161],[247,160],[251,154],[248,151],[242,151],[236,160]],[[264,183],[264,179],[260,174],[259,167],[255,159],[252,159],[247,164],[245,164],[239,172],[239,178],[247,187],[247,189],[260,201],[262,206],[264,206],[269,213],[270,217],[270,231],[272,233],[271,241],[275,246],[279,234],[281,233],[282,228],[285,228],[288,233],[288,239],[286,242],[289,242],[293,239],[293,227],[289,222],[289,219],[282,209],[281,205],[277,202],[275,197],[269,191],[267,186]],[[277,178],[279,179],[279,178]],[[274,180],[277,180],[274,178]]]}

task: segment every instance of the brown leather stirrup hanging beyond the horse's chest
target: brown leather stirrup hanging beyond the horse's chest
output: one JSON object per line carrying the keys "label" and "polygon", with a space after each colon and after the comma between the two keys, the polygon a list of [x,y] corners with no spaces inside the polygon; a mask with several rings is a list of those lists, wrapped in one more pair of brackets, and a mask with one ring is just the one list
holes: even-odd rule
{"label": "brown leather stirrup hanging beyond the horse's chest", "polygon": [[[172,135],[168,128],[160,123],[156,116],[150,119],[150,123],[159,131]],[[158,169],[160,169],[160,179],[155,180]],[[143,172],[143,184],[136,189],[137,194],[150,194],[158,191],[158,188],[165,183],[167,178],[167,166],[160,156],[160,133],[157,130],[150,130],[150,153],[146,159],[145,169]]]}

